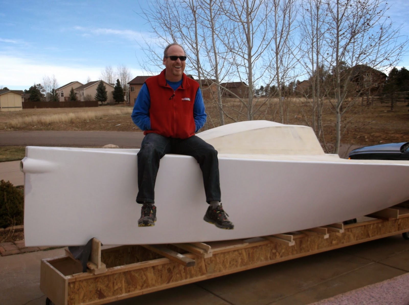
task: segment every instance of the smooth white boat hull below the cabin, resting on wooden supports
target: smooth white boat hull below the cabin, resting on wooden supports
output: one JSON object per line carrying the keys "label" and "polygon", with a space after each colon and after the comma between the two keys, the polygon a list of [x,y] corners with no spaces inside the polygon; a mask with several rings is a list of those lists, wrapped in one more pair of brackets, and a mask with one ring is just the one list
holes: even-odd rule
{"label": "smooth white boat hull below the cabin, resting on wooden supports", "polygon": [[203,220],[208,205],[196,160],[166,155],[155,185],[157,222],[138,227],[138,151],[27,147],[25,245],[84,245],[93,237],[105,245],[251,238],[342,222],[409,199],[409,163],[221,154],[222,203],[235,225],[222,230]]}

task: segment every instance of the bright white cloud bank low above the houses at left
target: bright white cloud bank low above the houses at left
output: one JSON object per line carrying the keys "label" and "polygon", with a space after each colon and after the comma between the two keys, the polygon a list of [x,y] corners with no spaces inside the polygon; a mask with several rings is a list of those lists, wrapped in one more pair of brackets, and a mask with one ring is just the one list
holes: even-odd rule
{"label": "bright white cloud bank low above the houses at left", "polygon": [[[0,62],[2,63],[0,86],[15,90],[29,89],[34,83],[41,83],[43,76],[54,75],[59,86],[74,80],[85,83],[88,76],[91,80],[99,80],[101,71],[104,69],[104,67],[49,65],[34,59],[1,54]],[[138,69],[131,69],[131,72],[133,77],[144,75],[144,72]]]}

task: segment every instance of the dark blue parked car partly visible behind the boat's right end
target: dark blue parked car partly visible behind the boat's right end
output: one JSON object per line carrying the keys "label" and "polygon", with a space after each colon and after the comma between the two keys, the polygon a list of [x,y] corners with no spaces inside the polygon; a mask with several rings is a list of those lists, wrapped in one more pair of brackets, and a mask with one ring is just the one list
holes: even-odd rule
{"label": "dark blue parked car partly visible behind the boat's right end", "polygon": [[409,160],[409,142],[360,147],[352,150],[350,159]]}

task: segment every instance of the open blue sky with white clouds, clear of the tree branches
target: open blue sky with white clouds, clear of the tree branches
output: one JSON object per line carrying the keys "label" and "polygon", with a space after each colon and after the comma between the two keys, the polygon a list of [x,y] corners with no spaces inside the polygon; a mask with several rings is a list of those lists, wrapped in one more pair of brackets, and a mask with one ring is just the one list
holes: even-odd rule
{"label": "open blue sky with white clouds, clear of the tree branches", "polygon": [[[126,65],[133,77],[149,75],[138,62],[143,38],[151,36],[136,13],[138,2],[0,0],[0,87],[28,89],[53,75],[60,86],[85,83],[88,77],[99,80],[106,66]],[[403,23],[401,34],[409,36],[409,1],[389,4],[391,20]],[[399,66],[409,67],[409,55]]]}

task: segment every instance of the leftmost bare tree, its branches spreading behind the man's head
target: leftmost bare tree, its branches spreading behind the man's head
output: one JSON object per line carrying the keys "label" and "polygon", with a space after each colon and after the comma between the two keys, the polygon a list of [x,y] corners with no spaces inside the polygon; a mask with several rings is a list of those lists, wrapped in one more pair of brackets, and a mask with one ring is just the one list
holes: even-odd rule
{"label": "leftmost bare tree, its branches spreading behind the man's head", "polygon": [[[216,36],[216,27],[218,27],[216,22],[220,20],[218,17],[221,16],[221,13],[216,2],[215,0],[156,0],[151,2],[149,9],[141,9],[140,15],[151,24],[155,41],[161,43],[152,45],[147,42],[142,49],[149,58],[148,62],[155,62],[157,65],[162,61],[161,52],[164,45],[171,42],[182,44],[188,56],[185,72],[197,76],[201,89],[204,86],[216,85],[216,96],[212,98],[217,100],[219,107],[218,123],[224,125],[220,82],[226,75],[224,71],[228,69],[225,69],[225,59],[219,59],[222,44],[218,37],[222,35]],[[175,11],[173,7],[182,7],[182,9]],[[222,24],[222,20],[219,22]],[[156,49],[155,46],[160,49]],[[146,63],[141,62],[145,67]],[[213,94],[213,91],[210,91],[210,94]],[[211,102],[209,97],[205,101]],[[212,121],[212,123],[215,122]]]}

